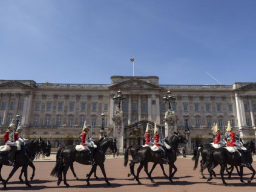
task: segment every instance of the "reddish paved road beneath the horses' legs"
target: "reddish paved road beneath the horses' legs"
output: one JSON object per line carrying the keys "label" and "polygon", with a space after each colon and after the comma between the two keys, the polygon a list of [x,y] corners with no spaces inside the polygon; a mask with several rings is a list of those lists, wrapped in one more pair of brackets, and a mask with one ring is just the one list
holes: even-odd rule
{"label": "reddish paved road beneath the horses' legs", "polygon": [[[100,177],[99,180],[91,178],[91,186],[87,187],[87,182],[85,181],[85,175],[89,172],[89,165],[80,165],[75,163],[74,169],[77,173],[77,176],[80,178],[80,181],[76,181],[73,178],[71,171],[68,171],[67,179],[68,184],[71,185],[70,188],[66,188],[63,184],[57,186],[57,178],[50,176],[51,169],[54,167],[55,156],[51,155],[50,158],[45,158],[44,161],[36,160],[34,165],[36,166],[36,176],[34,181],[31,181],[30,184],[32,188],[27,188],[25,184],[20,184],[18,182],[19,171],[15,173],[13,178],[10,179],[7,187],[9,191],[103,191],[103,192],[115,192],[115,191],[140,191],[140,192],[149,192],[149,191],[242,191],[246,192],[255,191],[256,181],[252,181],[251,184],[242,185],[239,181],[238,175],[234,173],[232,179],[226,179],[226,182],[232,184],[232,187],[226,187],[222,185],[221,179],[213,179],[211,182],[206,182],[205,179],[200,179],[199,170],[192,170],[194,162],[191,158],[178,158],[176,161],[176,167],[178,171],[174,176],[174,183],[170,184],[168,179],[163,177],[162,170],[157,166],[156,170],[153,172],[153,177],[155,184],[152,184],[149,179],[146,178],[145,172],[142,170],[140,173],[140,181],[142,185],[137,185],[137,182],[133,178],[128,178],[127,173],[129,172],[128,167],[123,166],[123,158],[111,158],[108,156],[105,161],[105,170],[107,173],[108,180],[111,182],[111,186],[108,187],[105,184],[101,171],[97,170],[97,175]],[[130,157],[131,159],[131,157]],[[151,167],[152,164],[149,164]],[[256,162],[253,162],[253,167],[256,168]],[[136,166],[137,168],[137,166]],[[166,173],[168,173],[168,167],[165,165]],[[4,166],[2,168],[2,177],[7,178],[8,174],[11,171],[11,167]],[[215,169],[216,173],[219,172],[219,168]],[[206,173],[206,171],[205,171]],[[248,168],[245,168],[245,179],[248,179],[251,175]],[[28,168],[28,175],[31,175],[31,168]],[[208,176],[208,175],[206,175]],[[217,177],[220,178],[220,175],[217,174]]]}

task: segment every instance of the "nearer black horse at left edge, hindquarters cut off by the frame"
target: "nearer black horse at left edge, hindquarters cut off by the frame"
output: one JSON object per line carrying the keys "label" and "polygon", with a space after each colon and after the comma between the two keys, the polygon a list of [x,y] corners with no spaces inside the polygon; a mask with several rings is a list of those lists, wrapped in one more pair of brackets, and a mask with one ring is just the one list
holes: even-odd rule
{"label": "nearer black horse at left edge, hindquarters cut off by the frame", "polygon": [[[1,170],[3,165],[10,166],[8,161],[9,152],[0,153],[0,180],[4,185],[3,187],[4,190],[7,190],[7,187],[6,187],[7,182],[16,172],[16,170],[18,170],[19,167],[22,167],[24,169],[25,184],[27,185],[27,187],[31,187],[27,179],[28,163],[31,161],[31,158],[33,158],[34,155],[36,155],[36,151],[39,149],[39,147],[41,147],[42,144],[44,144],[44,141],[42,141],[42,139],[39,138],[39,139],[31,140],[25,146],[21,146],[21,150],[16,151],[16,155],[15,155],[16,164],[13,166],[13,169],[11,170],[11,173],[9,174],[6,180],[2,179]],[[42,147],[42,149],[45,152],[45,148]]]}

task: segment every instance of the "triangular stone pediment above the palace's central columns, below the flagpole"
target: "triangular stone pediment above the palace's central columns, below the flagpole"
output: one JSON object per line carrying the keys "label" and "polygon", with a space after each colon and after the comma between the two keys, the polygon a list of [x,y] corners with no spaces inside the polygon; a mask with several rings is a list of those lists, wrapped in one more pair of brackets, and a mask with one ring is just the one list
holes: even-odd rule
{"label": "triangular stone pediment above the palace's central columns, below the flagpole", "polygon": [[154,85],[152,83],[144,82],[138,78],[132,78],[122,83],[117,83],[116,85],[112,85],[111,88],[119,88],[119,89],[161,89],[159,86]]}

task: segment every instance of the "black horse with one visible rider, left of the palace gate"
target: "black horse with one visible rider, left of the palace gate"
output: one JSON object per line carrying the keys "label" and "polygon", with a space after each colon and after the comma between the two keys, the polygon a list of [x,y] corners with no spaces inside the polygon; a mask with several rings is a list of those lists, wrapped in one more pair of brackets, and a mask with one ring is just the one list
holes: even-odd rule
{"label": "black horse with one visible rider, left of the palace gate", "polygon": [[[57,185],[61,184],[62,174],[63,174],[64,184],[66,185],[66,187],[70,187],[70,185],[67,183],[66,174],[67,174],[68,168],[71,165],[73,165],[74,161],[83,165],[91,165],[91,163],[89,162],[90,154],[88,154],[87,151],[77,152],[75,147],[76,146],[61,147],[57,152],[59,156],[56,157],[56,165],[54,166],[50,174],[51,176],[58,178]],[[91,177],[91,174],[93,174],[93,172],[96,171],[97,165],[99,165],[107,185],[108,186],[111,185],[107,179],[105,168],[104,168],[105,152],[107,151],[108,147],[110,147],[110,149],[114,153],[116,153],[117,151],[116,138],[103,138],[102,141],[100,141],[100,146],[94,149],[93,158],[94,158],[95,164],[92,165],[91,171],[87,177],[87,186],[91,185],[89,182],[90,177]]]}

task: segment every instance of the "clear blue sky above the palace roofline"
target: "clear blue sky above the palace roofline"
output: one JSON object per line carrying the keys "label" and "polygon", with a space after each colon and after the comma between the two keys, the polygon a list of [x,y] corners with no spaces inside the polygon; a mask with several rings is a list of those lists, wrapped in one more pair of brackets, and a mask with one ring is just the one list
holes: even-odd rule
{"label": "clear blue sky above the palace roofline", "polygon": [[0,79],[256,82],[256,1],[1,0]]}

